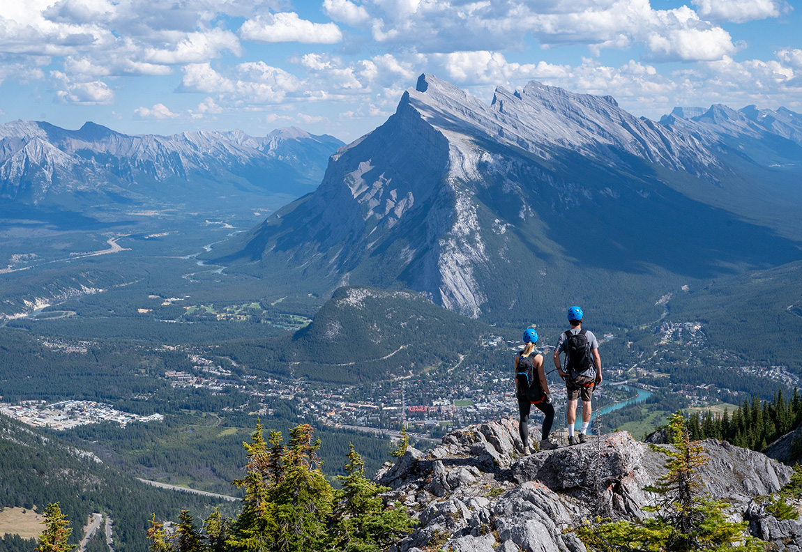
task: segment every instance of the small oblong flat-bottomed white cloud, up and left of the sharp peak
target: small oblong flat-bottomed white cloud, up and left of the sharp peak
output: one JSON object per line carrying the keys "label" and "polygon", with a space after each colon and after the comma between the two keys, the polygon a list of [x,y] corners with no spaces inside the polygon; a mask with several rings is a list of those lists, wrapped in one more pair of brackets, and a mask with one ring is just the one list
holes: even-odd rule
{"label": "small oblong flat-bottomed white cloud, up and left of the sharp peak", "polygon": [[240,37],[253,42],[303,42],[335,44],[342,40],[342,31],[334,23],[314,23],[294,12],[257,15],[240,27]]}

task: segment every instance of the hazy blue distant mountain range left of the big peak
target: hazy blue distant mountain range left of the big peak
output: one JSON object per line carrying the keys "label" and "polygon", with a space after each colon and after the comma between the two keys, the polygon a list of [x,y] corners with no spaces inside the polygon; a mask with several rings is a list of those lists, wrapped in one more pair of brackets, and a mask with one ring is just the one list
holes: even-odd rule
{"label": "hazy blue distant mountain range left of the big peak", "polygon": [[107,200],[196,201],[233,191],[304,195],[342,142],[290,127],[263,138],[242,131],[124,135],[95,123],[0,125],[0,199],[80,207]]}

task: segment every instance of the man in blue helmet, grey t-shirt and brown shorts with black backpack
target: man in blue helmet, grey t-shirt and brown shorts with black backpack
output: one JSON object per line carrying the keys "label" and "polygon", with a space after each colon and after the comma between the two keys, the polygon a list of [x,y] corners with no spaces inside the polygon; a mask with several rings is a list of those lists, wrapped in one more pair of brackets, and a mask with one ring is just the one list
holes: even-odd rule
{"label": "man in blue helmet, grey t-shirt and brown shorts with black backpack", "polygon": [[[560,334],[557,347],[554,349],[554,365],[565,380],[568,392],[568,408],[565,418],[568,421],[568,444],[577,445],[588,440],[590,425],[591,396],[594,385],[602,383],[602,358],[599,357],[599,344],[593,332],[582,329],[582,309],[568,309],[568,321],[571,329]],[[560,365],[560,353],[565,353],[565,371]],[[577,421],[577,401],[582,397],[582,429],[577,438],[574,425]]]}

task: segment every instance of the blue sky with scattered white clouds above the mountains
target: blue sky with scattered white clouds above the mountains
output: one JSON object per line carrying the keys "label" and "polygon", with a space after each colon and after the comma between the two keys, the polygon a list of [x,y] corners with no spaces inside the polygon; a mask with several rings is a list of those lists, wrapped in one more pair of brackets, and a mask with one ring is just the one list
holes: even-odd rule
{"label": "blue sky with scattered white clouds above the mountains", "polygon": [[297,126],[350,141],[423,72],[489,101],[538,80],[674,106],[802,112],[784,0],[3,0],[0,123],[129,134]]}

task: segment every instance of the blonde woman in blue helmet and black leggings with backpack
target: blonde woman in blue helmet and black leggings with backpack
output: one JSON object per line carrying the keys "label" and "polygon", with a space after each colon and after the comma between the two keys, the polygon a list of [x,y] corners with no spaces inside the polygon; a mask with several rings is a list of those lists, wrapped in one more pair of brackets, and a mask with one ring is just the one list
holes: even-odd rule
{"label": "blonde woman in blue helmet and black leggings with backpack", "polygon": [[529,454],[529,411],[532,405],[544,414],[541,450],[556,449],[549,441],[549,431],[554,421],[554,407],[549,395],[549,382],[543,369],[543,356],[535,351],[537,332],[529,328],[524,332],[524,349],[515,356],[515,396],[518,399],[520,423],[518,433],[524,441],[524,453]]}

